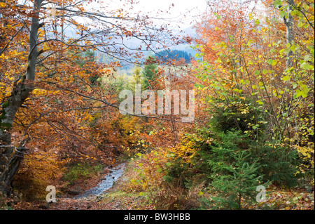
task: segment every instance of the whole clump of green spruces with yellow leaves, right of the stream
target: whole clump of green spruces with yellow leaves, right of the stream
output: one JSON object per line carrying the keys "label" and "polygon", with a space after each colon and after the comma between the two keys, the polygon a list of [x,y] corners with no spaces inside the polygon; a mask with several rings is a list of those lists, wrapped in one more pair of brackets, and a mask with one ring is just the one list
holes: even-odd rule
{"label": "whole clump of green spruces with yellow leaves, right of the stream", "polygon": [[212,102],[209,123],[187,135],[196,149],[190,169],[213,193],[204,208],[241,209],[255,203],[260,185],[296,185],[297,150],[268,141],[267,111],[241,97]]}

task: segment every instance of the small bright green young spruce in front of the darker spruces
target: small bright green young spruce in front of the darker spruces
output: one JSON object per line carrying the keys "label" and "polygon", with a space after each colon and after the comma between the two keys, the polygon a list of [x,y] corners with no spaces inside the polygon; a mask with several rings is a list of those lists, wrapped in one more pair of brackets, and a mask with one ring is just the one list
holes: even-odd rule
{"label": "small bright green young spruce in front of the darker spruces", "polygon": [[216,189],[212,209],[241,209],[242,204],[255,201],[262,176],[258,175],[260,164],[251,159],[240,131],[217,134],[211,145],[210,185]]}

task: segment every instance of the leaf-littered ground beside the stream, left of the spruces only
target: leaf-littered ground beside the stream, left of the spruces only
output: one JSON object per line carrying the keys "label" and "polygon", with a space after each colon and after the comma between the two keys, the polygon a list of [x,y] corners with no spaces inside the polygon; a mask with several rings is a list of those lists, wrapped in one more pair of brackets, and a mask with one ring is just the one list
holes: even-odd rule
{"label": "leaf-littered ground beside the stream, left of the spruces only", "polygon": [[[129,181],[130,171],[133,164],[128,163],[123,176],[114,182],[113,187],[106,190],[102,195],[89,195],[76,198],[76,195],[62,194],[57,196],[56,203],[48,204],[45,200],[41,202],[19,202],[12,206],[13,210],[153,210],[154,206],[148,204],[145,197],[139,193],[130,193],[123,190],[124,183]],[[96,187],[102,181],[104,172],[99,175],[76,183],[71,189],[80,189],[83,192]]]}

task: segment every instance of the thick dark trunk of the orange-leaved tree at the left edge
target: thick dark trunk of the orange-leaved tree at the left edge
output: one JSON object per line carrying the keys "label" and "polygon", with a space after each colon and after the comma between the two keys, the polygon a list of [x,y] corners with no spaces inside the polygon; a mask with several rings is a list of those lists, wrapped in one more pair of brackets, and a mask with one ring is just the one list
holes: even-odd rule
{"label": "thick dark trunk of the orange-leaved tree at the left edge", "polygon": [[43,0],[35,0],[33,6],[33,16],[31,18],[31,27],[29,32],[29,58],[27,73],[25,77],[15,82],[13,91],[8,100],[3,103],[0,116],[0,190],[3,193],[8,192],[8,187],[18,170],[23,159],[23,151],[26,150],[23,145],[25,140],[17,148],[11,145],[10,128],[13,126],[15,114],[29,97],[32,86],[27,81],[34,81],[36,71],[36,60],[38,58],[37,41],[39,24],[39,9]]}

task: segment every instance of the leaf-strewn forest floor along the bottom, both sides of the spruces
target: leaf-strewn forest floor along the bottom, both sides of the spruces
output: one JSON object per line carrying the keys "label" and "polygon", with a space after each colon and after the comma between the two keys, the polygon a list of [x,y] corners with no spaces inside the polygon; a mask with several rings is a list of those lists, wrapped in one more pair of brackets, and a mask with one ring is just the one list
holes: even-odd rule
{"label": "leaf-strewn forest floor along the bottom, both sides of the spruces", "polygon": [[[127,162],[123,176],[121,176],[109,190],[102,195],[90,195],[75,199],[69,195],[57,198],[57,203],[21,202],[12,206],[14,210],[154,210],[153,200],[148,197],[149,192],[139,194],[127,189],[130,176],[137,168],[133,162]],[[94,187],[101,181],[100,176],[88,180],[85,190]],[[83,187],[83,185],[80,185]],[[204,193],[202,197],[211,196]],[[314,190],[311,192],[303,187],[276,187],[271,185],[267,189],[266,202],[253,205],[244,204],[243,209],[252,210],[314,210]],[[197,209],[197,208],[196,208]],[[211,208],[209,208],[211,209]]]}

